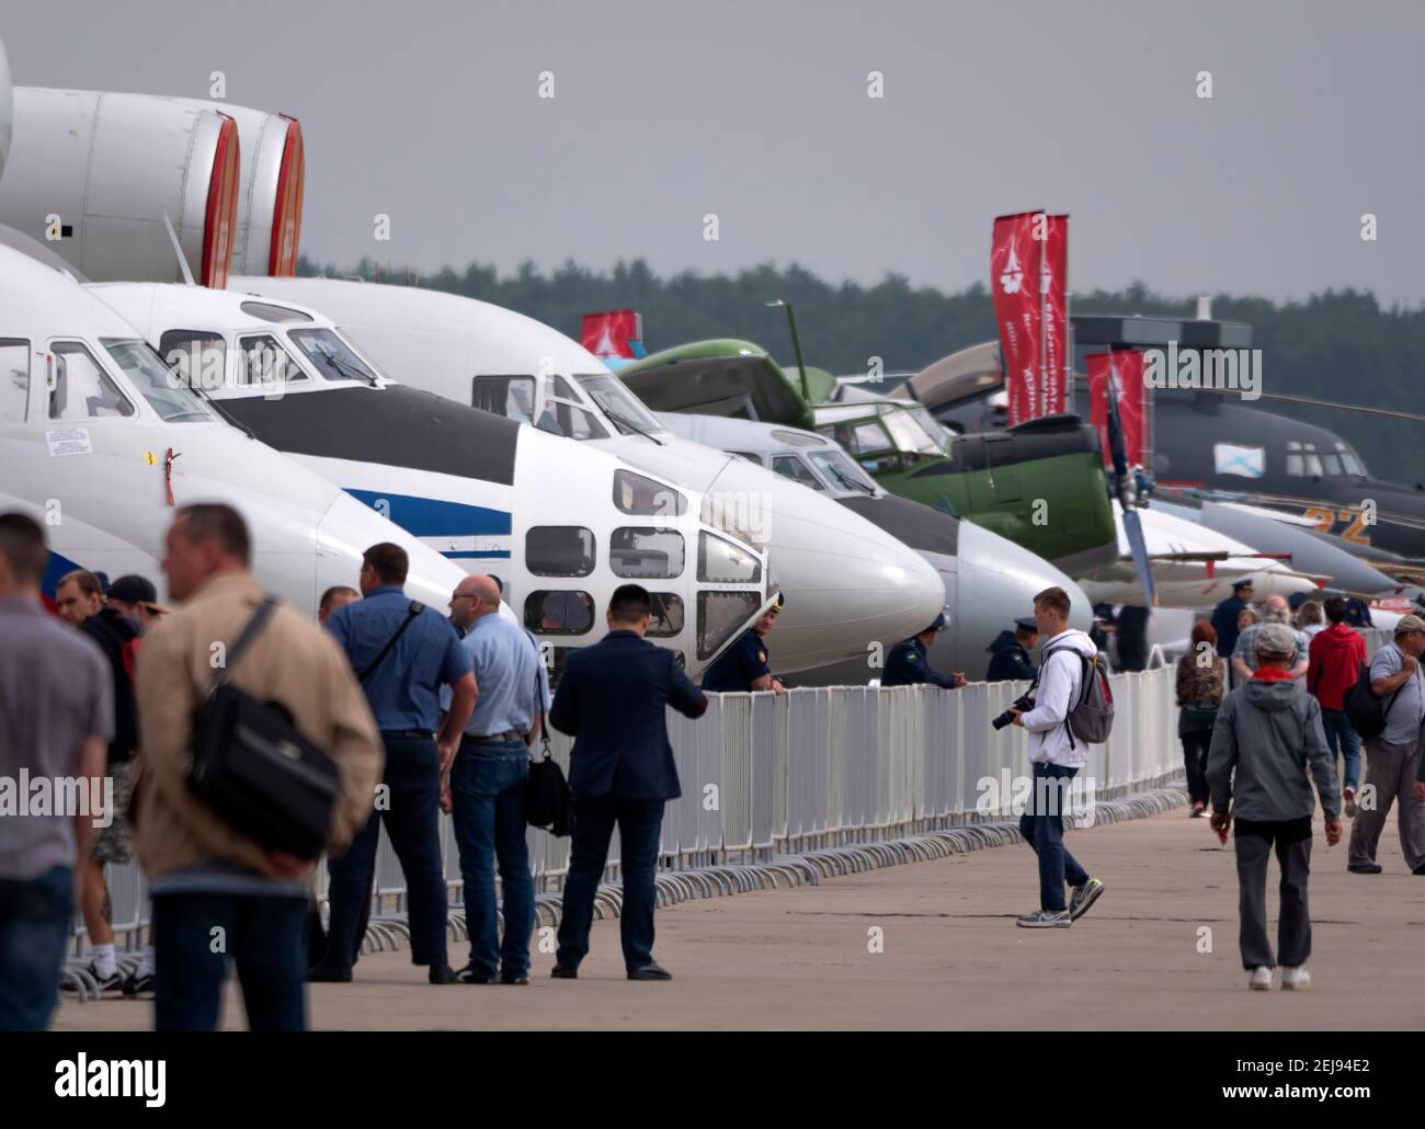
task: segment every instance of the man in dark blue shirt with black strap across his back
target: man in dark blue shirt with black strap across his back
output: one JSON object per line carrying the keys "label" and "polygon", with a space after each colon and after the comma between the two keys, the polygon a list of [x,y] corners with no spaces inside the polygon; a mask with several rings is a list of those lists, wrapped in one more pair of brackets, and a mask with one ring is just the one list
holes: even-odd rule
{"label": "man in dark blue shirt with black strap across his back", "polygon": [[[459,982],[446,958],[446,884],[436,808],[440,780],[475,706],[475,676],[450,622],[402,592],[409,566],[399,545],[373,545],[362,555],[362,599],[326,620],[326,630],[342,644],[366,691],[386,746],[386,771],[385,794],[378,794],[366,827],[345,855],[326,864],[332,918],[326,957],[308,974],[314,981],[345,984],[352,978],[362,902],[370,898],[376,820],[383,815],[406,875],[410,962],[429,965],[432,984]],[[452,690],[445,724],[439,723],[442,686]]]}

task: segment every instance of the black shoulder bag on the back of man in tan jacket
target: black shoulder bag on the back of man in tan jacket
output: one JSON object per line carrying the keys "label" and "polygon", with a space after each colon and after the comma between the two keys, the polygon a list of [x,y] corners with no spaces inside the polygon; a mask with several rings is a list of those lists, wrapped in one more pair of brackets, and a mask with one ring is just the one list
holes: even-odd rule
{"label": "black shoulder bag on the back of man in tan jacket", "polygon": [[298,731],[286,707],[258,701],[228,680],[276,604],[275,596],[262,602],[212,676],[194,718],[188,788],[264,850],[312,860],[331,832],[341,791],[336,764]]}

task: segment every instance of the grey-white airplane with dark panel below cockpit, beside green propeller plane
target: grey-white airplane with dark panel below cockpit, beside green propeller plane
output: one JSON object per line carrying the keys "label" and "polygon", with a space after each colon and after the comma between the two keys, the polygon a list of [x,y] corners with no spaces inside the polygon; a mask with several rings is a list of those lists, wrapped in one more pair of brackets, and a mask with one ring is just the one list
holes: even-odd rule
{"label": "grey-white airplane with dark panel below cockpit, beside green propeller plane", "polygon": [[[931,666],[940,671],[963,670],[970,679],[985,674],[986,643],[1013,620],[1033,610],[1033,599],[1046,587],[1069,593],[1074,627],[1093,623],[1089,599],[1069,576],[1035,553],[945,510],[896,498],[876,485],[841,446],[815,432],[730,416],[658,413],[657,421],[691,442],[738,455],[792,482],[834,498],[879,529],[909,545],[940,574],[945,586],[946,630],[931,650]],[[881,640],[884,646],[896,640]],[[814,673],[812,681],[835,684],[868,670],[865,657]]]}

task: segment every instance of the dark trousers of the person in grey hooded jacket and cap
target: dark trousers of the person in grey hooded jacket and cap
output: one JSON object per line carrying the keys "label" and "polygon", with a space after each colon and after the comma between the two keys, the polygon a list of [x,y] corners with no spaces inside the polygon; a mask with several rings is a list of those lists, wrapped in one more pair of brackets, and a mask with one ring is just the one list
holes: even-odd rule
{"label": "dark trousers of the person in grey hooded jacket and cap", "polygon": [[1287,968],[1298,968],[1311,955],[1311,915],[1307,912],[1307,877],[1311,872],[1311,817],[1284,821],[1237,820],[1237,912],[1241,917],[1243,968],[1275,968],[1267,939],[1267,860],[1273,844],[1281,867],[1281,919],[1277,949]]}

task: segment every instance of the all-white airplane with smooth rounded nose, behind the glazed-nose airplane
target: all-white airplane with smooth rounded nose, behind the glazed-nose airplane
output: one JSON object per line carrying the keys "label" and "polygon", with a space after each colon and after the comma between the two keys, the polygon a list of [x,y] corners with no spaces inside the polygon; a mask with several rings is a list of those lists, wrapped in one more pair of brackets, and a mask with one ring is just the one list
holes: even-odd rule
{"label": "all-white airplane with smooth rounded nose, behind the glazed-nose airplane", "polygon": [[[335,319],[402,382],[580,439],[703,493],[715,525],[765,545],[787,593],[779,671],[865,659],[939,613],[940,576],[862,516],[724,452],[673,435],[600,361],[509,309],[410,287],[325,278],[239,278],[229,288],[302,302]],[[530,429],[527,429],[530,431]]]}

